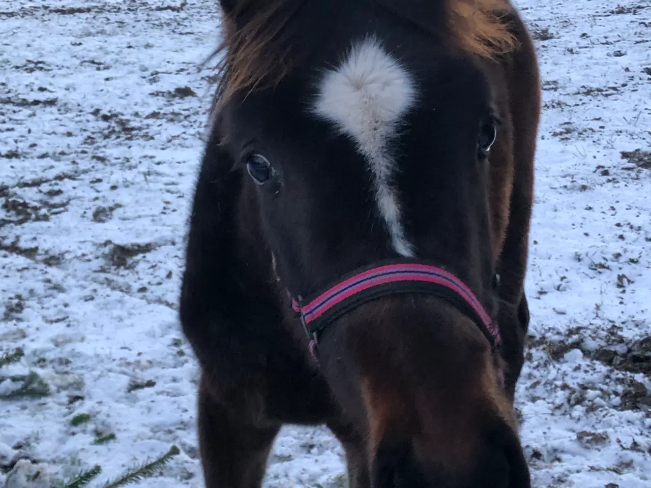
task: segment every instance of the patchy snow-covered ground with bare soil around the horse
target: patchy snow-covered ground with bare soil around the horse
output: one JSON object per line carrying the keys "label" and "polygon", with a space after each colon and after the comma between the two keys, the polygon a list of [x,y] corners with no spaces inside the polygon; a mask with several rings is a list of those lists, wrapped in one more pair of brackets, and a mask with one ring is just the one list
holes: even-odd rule
{"label": "patchy snow-covered ground with bare soil around the horse", "polygon": [[[0,354],[25,351],[0,375],[51,390],[0,400],[0,485],[23,457],[25,486],[99,464],[99,487],[173,444],[141,485],[203,485],[176,304],[215,4],[0,0]],[[651,487],[651,4],[517,5],[544,80],[517,393],[534,484]],[[327,429],[288,426],[266,486],[343,469]]]}

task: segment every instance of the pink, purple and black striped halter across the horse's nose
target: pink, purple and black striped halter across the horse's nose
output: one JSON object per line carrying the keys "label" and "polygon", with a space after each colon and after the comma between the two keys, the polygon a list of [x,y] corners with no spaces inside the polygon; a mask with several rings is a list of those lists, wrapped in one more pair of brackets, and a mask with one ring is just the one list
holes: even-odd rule
{"label": "pink, purple and black striped halter across the horse's nose", "polygon": [[[276,273],[275,256],[272,254]],[[497,279],[497,275],[495,275]],[[276,279],[280,281],[276,273]],[[294,297],[286,290],[292,310],[301,319],[310,339],[310,351],[316,358],[321,332],[333,321],[364,303],[387,295],[417,293],[445,299],[450,305],[472,319],[490,342],[493,352],[501,346],[497,323],[475,294],[458,277],[421,260],[392,259],[355,269],[341,280],[331,283],[324,291],[308,297]],[[503,373],[500,372],[503,381]]]}

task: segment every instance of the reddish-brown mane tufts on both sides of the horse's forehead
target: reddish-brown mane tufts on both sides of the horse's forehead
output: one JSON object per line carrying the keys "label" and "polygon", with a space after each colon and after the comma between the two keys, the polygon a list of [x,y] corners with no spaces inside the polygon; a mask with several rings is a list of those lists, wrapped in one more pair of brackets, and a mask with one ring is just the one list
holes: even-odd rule
{"label": "reddish-brown mane tufts on both sides of the horse's forehead", "polygon": [[[513,9],[508,0],[443,1],[452,38],[467,53],[492,59],[517,47],[505,21]],[[222,12],[222,38],[213,56],[223,56],[216,67],[219,81],[212,113],[235,92],[273,87],[290,72],[294,50],[301,49],[292,46],[301,29],[292,19],[307,3],[239,0],[232,12]]]}

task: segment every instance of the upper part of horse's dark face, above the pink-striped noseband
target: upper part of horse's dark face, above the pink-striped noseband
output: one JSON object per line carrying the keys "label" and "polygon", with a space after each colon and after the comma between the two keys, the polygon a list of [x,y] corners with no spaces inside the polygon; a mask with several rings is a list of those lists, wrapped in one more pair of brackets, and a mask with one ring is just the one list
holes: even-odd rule
{"label": "upper part of horse's dark face, above the pink-striped noseband", "polygon": [[335,68],[290,74],[223,112],[227,147],[295,293],[392,256],[490,282],[488,154],[499,118],[475,65],[428,64],[418,70],[363,38]]}

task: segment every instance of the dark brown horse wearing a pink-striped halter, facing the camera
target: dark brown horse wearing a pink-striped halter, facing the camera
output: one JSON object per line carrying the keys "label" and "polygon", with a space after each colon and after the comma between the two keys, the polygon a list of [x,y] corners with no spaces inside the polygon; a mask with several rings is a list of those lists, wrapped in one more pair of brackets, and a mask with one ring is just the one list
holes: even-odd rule
{"label": "dark brown horse wearing a pink-striped halter, facing the camera", "polygon": [[180,323],[206,487],[327,426],[351,488],[527,488],[540,116],[509,0],[219,0]]}

